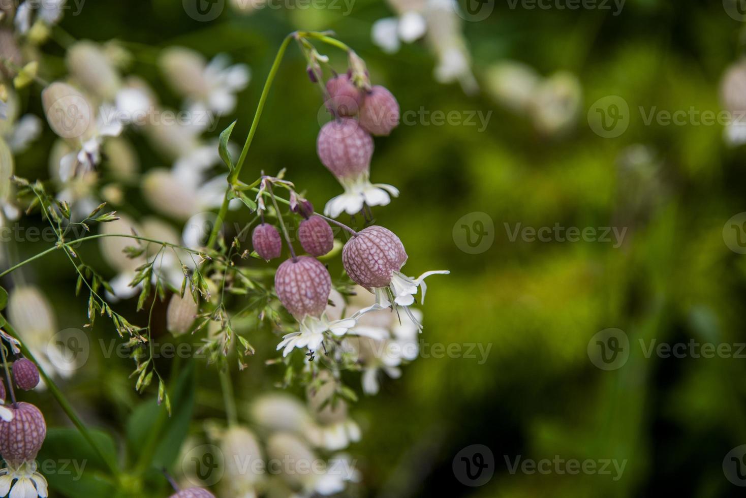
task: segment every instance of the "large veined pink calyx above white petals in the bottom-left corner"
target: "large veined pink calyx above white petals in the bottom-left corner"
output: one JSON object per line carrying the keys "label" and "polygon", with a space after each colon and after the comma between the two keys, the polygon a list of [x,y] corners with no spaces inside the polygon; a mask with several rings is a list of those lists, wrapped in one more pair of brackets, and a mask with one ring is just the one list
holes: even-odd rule
{"label": "large veined pink calyx above white petals in the bottom-left corner", "polygon": [[46,438],[44,415],[31,403],[18,403],[13,410],[13,420],[0,422],[0,456],[11,467],[37,458]]}

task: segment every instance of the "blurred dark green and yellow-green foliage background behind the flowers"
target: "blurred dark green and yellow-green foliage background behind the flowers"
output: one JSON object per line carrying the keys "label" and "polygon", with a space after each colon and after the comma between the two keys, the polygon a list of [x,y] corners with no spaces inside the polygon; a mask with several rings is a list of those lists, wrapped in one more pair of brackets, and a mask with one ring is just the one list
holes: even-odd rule
{"label": "blurred dark green and yellow-green foliage background behind the flowers", "polygon": [[[646,125],[639,107],[646,113],[721,110],[719,82],[741,54],[742,23],[719,1],[628,0],[618,16],[598,9],[510,8],[499,1],[486,19],[463,23],[480,83],[480,92],[467,95],[457,83],[433,80],[435,62],[422,43],[403,45],[396,54],[373,45],[372,22],[390,15],[383,2],[357,0],[349,16],[336,10],[263,9],[251,16],[226,10],[203,23],[186,16],[178,1],[89,1],[81,16],[66,16],[61,27],[78,39],[131,42],[125,43],[135,55],[131,71],[173,107],[178,98],[169,102],[155,65],[157,48],[184,45],[247,63],[251,84],[218,127],[238,119],[236,142],[248,132],[280,41],[295,29],[333,29],[366,60],[373,83],[393,92],[402,112],[492,112],[483,131],[420,121],[375,140],[372,180],[398,186],[401,197],[374,215],[404,242],[410,256],[405,271],[451,270],[428,280],[422,340],[490,349],[486,362],[478,349],[476,358],[421,357],[401,379],[384,380],[379,395],[361,398],[352,414],[363,426],[363,441],[350,450],[363,473],[360,496],[736,496],[739,488],[724,476],[723,459],[746,443],[746,362],[647,358],[639,340],[746,342],[738,318],[745,259],[723,238],[726,221],[746,210],[744,151],[725,145],[720,124]],[[63,73],[61,49],[48,44],[45,51]],[[339,52],[325,53],[340,72],[345,69]],[[542,133],[529,116],[498,104],[488,75],[504,60],[526,63],[542,76],[574,74],[582,89],[577,120],[562,133]],[[321,101],[304,67],[291,46],[242,177],[287,168],[320,207],[339,186],[316,157]],[[621,96],[630,107],[629,128],[614,138],[598,136],[586,119],[592,104],[608,95]],[[39,101],[29,106],[41,115]],[[128,138],[137,144],[142,170],[169,166],[141,136]],[[19,157],[19,174],[48,177],[51,142],[47,134],[42,145]],[[630,166],[630,151],[645,154]],[[137,215],[142,205],[134,187],[119,209]],[[486,213],[494,224],[494,242],[477,254],[460,249],[457,223],[474,212]],[[242,215],[234,214],[236,221]],[[513,229],[518,223],[627,232],[618,248],[520,237],[511,242],[505,224]],[[20,256],[42,248],[24,245]],[[81,248],[94,262],[96,251],[95,245]],[[98,266],[106,274],[100,259]],[[330,271],[338,275],[339,262]],[[60,328],[84,323],[85,303],[72,295],[75,280],[61,254],[27,268],[25,278],[48,292]],[[120,306],[134,312],[134,303]],[[162,324],[164,313],[157,307]],[[626,333],[629,359],[604,371],[589,359],[588,347],[609,327]],[[92,333],[114,334],[103,326]],[[282,374],[263,365],[273,356],[275,338],[253,342],[257,356],[234,375],[245,403]],[[126,378],[131,362],[120,363],[90,362],[64,382],[87,420],[115,432],[139,403]],[[214,369],[198,365],[198,376],[195,420],[219,417]],[[351,385],[357,382],[351,377]],[[31,399],[50,414],[50,426],[66,424],[46,394]],[[453,470],[454,457],[471,444],[484,444],[494,455],[494,476],[474,488]],[[627,463],[618,480],[513,474],[507,461],[517,456]]]}

